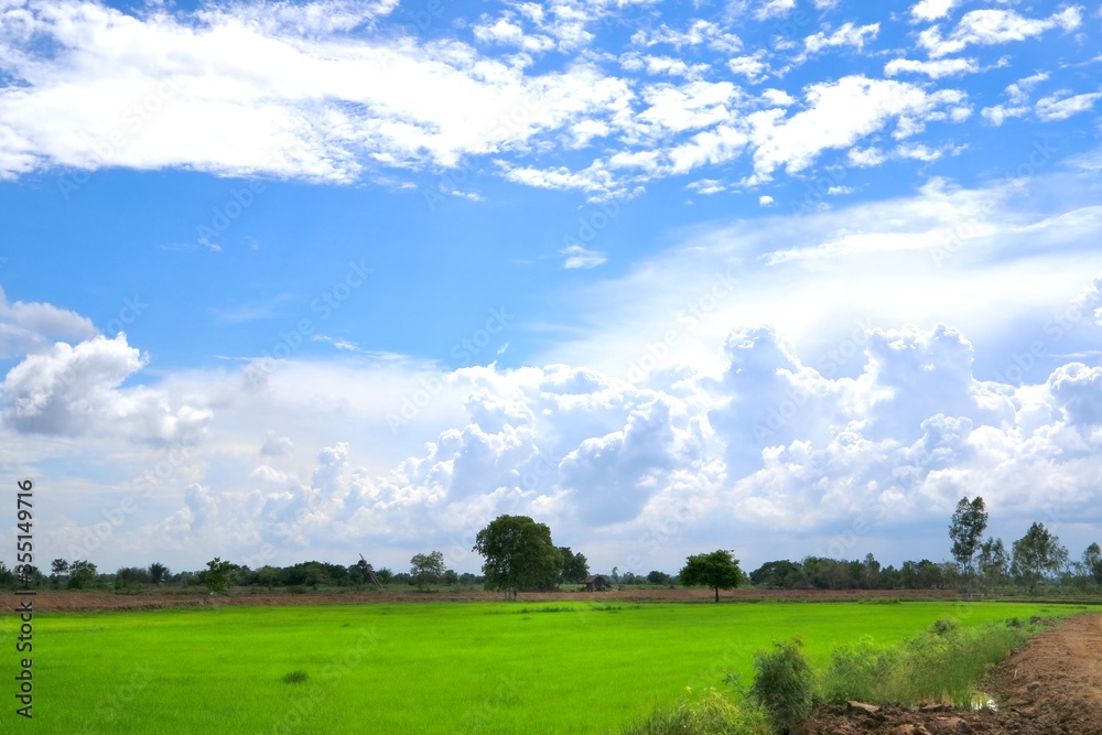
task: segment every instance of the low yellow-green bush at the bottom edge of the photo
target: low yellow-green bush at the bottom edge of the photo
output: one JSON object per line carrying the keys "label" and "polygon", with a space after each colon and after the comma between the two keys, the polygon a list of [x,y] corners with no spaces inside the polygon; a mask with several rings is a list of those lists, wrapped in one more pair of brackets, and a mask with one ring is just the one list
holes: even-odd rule
{"label": "low yellow-green bush at the bottom edge of the photo", "polygon": [[769,735],[769,716],[709,689],[695,699],[690,692],[672,710],[655,712],[624,735]]}

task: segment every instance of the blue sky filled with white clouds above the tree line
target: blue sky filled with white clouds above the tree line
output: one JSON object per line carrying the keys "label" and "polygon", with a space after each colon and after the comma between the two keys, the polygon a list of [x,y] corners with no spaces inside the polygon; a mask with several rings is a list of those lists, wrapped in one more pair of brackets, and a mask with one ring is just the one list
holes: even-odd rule
{"label": "blue sky filled with white clouds above the tree line", "polygon": [[1078,555],[1100,12],[4,6],[3,474],[107,569]]}

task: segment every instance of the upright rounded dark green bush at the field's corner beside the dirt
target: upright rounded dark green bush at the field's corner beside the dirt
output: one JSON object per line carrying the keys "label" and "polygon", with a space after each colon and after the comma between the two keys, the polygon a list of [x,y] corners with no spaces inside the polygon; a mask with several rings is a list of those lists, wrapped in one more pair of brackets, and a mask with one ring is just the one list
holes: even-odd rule
{"label": "upright rounded dark green bush at the field's corner beside the dirt", "polygon": [[754,655],[750,699],[773,717],[776,732],[790,733],[811,714],[814,675],[799,638],[775,642],[775,650]]}

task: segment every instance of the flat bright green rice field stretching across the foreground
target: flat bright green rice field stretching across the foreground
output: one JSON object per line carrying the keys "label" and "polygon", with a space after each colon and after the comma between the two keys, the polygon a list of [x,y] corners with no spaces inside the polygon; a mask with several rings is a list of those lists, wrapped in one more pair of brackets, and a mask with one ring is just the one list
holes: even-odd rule
{"label": "flat bright green rice field stretching across the foreground", "polygon": [[[544,607],[558,614],[536,614]],[[863,636],[889,646],[947,615],[968,631],[1055,609],[472,603],[52,614],[35,618],[34,718],[66,734],[607,733],[674,706],[687,687],[706,692],[728,671],[749,679],[754,652],[792,635],[821,669]],[[17,624],[0,625],[6,647]],[[709,706],[693,702],[683,701],[685,716]]]}

